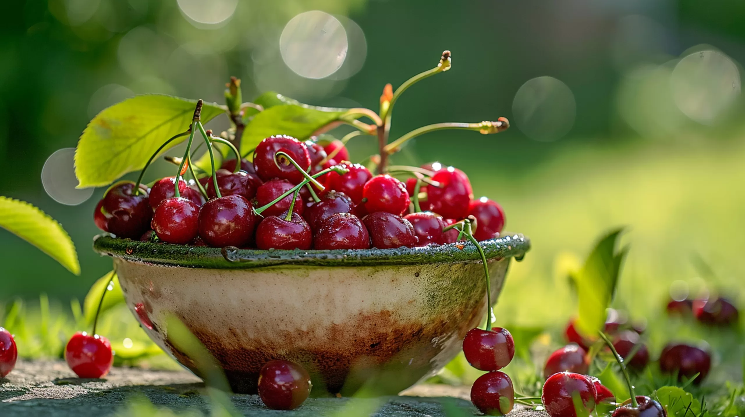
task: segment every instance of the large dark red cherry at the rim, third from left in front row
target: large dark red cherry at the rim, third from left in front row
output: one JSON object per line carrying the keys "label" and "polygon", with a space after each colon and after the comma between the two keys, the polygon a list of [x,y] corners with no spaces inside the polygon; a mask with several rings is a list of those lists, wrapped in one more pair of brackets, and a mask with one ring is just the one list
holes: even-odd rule
{"label": "large dark red cherry at the rim, third from left in front row", "polygon": [[207,201],[199,211],[199,236],[213,248],[242,247],[253,238],[256,213],[242,195]]}

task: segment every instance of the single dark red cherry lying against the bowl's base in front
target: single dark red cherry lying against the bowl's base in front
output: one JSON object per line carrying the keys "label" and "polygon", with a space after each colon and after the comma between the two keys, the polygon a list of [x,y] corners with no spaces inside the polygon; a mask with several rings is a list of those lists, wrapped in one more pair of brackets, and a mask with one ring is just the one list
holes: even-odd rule
{"label": "single dark red cherry lying against the bowl's base in front", "polygon": [[269,361],[259,371],[259,397],[272,410],[294,410],[311,393],[308,371],[290,361]]}

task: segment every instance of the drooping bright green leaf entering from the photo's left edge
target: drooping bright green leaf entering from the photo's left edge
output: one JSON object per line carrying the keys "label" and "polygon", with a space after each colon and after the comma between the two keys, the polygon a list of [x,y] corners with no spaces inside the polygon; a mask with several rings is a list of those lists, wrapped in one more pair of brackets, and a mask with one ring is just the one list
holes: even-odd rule
{"label": "drooping bright green leaf entering from the photo's left edge", "polygon": [[0,195],[0,227],[19,236],[75,275],[80,275],[75,244],[62,225],[25,201]]}

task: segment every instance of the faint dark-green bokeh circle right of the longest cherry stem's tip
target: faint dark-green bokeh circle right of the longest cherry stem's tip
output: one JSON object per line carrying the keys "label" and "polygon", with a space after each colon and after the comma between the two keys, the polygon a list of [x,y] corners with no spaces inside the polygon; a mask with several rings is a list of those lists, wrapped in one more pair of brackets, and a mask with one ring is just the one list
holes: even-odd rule
{"label": "faint dark-green bokeh circle right of the longest cherry stem's tip", "polygon": [[528,138],[549,142],[566,135],[577,117],[571,89],[554,77],[527,80],[513,100],[514,123]]}

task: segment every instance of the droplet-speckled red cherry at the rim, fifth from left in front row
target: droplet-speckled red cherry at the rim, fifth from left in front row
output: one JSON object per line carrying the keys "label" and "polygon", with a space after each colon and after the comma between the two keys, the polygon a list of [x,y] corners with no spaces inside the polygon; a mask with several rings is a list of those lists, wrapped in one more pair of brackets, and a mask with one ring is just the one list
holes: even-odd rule
{"label": "droplet-speckled red cherry at the rim, fifth from left in front row", "polygon": [[336,213],[313,232],[314,249],[369,249],[370,233],[359,217]]}

